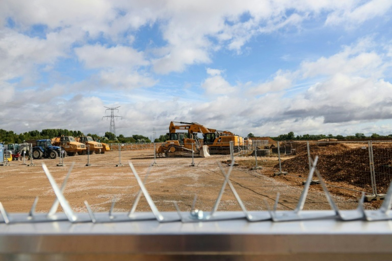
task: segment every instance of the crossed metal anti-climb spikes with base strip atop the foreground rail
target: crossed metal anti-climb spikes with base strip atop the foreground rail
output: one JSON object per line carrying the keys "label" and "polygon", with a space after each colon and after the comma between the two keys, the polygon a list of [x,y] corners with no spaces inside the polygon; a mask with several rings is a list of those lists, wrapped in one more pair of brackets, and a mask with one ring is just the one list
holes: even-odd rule
{"label": "crossed metal anti-climb spikes with base strip atop the foreground rail", "polygon": [[[282,221],[302,221],[302,220],[316,220],[316,219],[336,219],[342,221],[352,221],[352,220],[362,220],[362,221],[383,221],[383,220],[392,220],[392,182],[388,188],[387,195],[381,207],[378,210],[364,210],[363,207],[363,199],[364,194],[362,194],[361,199],[359,200],[358,208],[356,210],[339,210],[338,206],[334,203],[332,196],[328,192],[327,186],[325,185],[318,169],[317,169],[317,161],[318,157],[312,161],[310,159],[311,168],[309,171],[309,175],[307,178],[307,183],[301,193],[299,198],[297,207],[295,210],[292,211],[278,211],[277,206],[279,203],[279,193],[277,194],[276,201],[274,203],[273,209],[270,210],[269,205],[265,201],[267,205],[268,211],[260,211],[254,212],[252,211],[251,214],[248,212],[240,199],[240,196],[236,192],[234,186],[232,185],[229,177],[233,169],[233,164],[230,165],[230,168],[227,173],[223,170],[222,166],[219,164],[220,170],[225,178],[223,181],[220,193],[214,203],[211,212],[198,211],[194,209],[196,203],[196,197],[192,203],[192,210],[191,213],[187,216],[181,214],[178,205],[174,202],[174,207],[176,212],[165,212],[165,216],[163,216],[158,209],[156,208],[154,202],[151,199],[151,196],[147,192],[145,188],[145,183],[147,181],[147,176],[150,170],[145,175],[144,180],[142,181],[137,174],[134,166],[131,162],[129,162],[129,166],[140,186],[140,191],[136,195],[135,201],[132,205],[130,212],[114,212],[114,203],[116,201],[116,197],[113,198],[111,208],[109,210],[109,215],[107,213],[93,213],[91,207],[84,201],[85,206],[87,208],[88,215],[83,213],[74,213],[69,206],[69,203],[64,197],[64,189],[71,174],[72,167],[70,168],[67,176],[65,177],[62,187],[59,188],[56,182],[53,179],[53,176],[49,172],[47,166],[42,164],[42,168],[53,188],[53,191],[56,195],[56,200],[53,203],[53,206],[49,213],[41,214],[35,213],[35,208],[38,202],[38,197],[34,199],[34,203],[31,206],[31,210],[29,213],[15,213],[15,214],[8,214],[0,203],[0,223],[5,224],[13,224],[13,223],[42,223],[42,222],[53,222],[53,221],[62,221],[62,222],[71,222],[71,223],[80,223],[80,222],[91,222],[91,223],[116,223],[116,222],[131,222],[131,221],[143,221],[143,220],[156,220],[158,222],[176,222],[182,221],[183,223],[189,222],[202,222],[202,221],[220,221],[220,220],[233,220],[233,219],[247,219],[248,221],[267,221],[270,220],[272,222],[282,222]],[[307,193],[309,190],[310,181],[312,177],[316,173],[319,184],[321,184],[325,195],[327,197],[328,203],[330,204],[332,210],[326,211],[311,211],[311,210],[303,210],[303,205],[305,203]],[[238,203],[241,206],[242,212],[218,212],[218,206],[220,204],[220,200],[225,190],[226,184],[229,184],[231,191],[233,192],[234,196],[236,197]],[[152,212],[138,212],[135,213],[136,206],[140,200],[141,194],[145,196],[147,203],[149,204]],[[57,213],[56,210],[58,205],[62,206],[64,211]]]}

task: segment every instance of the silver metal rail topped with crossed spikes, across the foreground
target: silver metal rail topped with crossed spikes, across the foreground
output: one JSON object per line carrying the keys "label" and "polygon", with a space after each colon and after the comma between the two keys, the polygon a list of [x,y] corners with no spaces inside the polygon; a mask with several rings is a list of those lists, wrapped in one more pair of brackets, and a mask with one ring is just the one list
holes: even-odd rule
{"label": "silver metal rail topped with crossed spikes, across the foreground", "polygon": [[[388,260],[392,259],[392,186],[378,210],[339,210],[317,170],[318,157],[309,159],[310,181],[316,173],[331,210],[303,210],[309,183],[297,208],[247,211],[226,173],[211,212],[160,212],[132,163],[140,192],[129,212],[74,213],[64,197],[69,169],[61,188],[43,164],[56,201],[48,214],[7,213],[0,203],[0,260]],[[147,173],[148,174],[148,173]],[[241,210],[218,212],[226,185]],[[152,212],[134,212],[141,194]],[[58,204],[64,212],[56,213]],[[176,204],[175,204],[176,205]],[[269,208],[268,204],[267,207]],[[377,222],[372,222],[377,221]]]}

